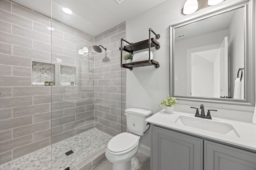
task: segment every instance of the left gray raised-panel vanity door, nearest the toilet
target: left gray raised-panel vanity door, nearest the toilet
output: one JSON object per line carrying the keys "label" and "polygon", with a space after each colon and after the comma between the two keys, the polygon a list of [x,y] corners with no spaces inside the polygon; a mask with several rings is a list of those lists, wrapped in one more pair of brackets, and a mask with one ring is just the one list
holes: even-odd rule
{"label": "left gray raised-panel vanity door, nearest the toilet", "polygon": [[203,140],[153,126],[152,170],[202,170]]}

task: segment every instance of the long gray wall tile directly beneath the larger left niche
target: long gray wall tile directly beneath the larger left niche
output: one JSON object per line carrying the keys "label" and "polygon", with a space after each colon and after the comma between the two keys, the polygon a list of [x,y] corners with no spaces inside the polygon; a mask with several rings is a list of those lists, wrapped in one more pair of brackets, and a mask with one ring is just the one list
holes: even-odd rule
{"label": "long gray wall tile directly beneath the larger left niche", "polygon": [[50,94],[49,86],[13,87],[12,96],[39,96]]}

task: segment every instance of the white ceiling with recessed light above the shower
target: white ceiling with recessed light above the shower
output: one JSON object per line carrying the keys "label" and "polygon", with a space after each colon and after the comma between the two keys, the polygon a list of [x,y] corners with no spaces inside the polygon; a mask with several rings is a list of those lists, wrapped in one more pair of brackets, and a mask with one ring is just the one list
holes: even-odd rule
{"label": "white ceiling with recessed light above the shower", "polygon": [[[166,0],[13,0],[34,11],[96,36]],[[73,14],[66,14],[62,7]]]}

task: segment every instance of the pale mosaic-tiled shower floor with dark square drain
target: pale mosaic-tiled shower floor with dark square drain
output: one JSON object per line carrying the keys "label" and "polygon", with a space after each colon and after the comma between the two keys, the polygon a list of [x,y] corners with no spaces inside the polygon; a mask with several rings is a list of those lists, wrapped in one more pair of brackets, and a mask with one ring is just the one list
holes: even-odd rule
{"label": "pale mosaic-tiled shower floor with dark square drain", "polygon": [[[0,170],[64,170],[106,147],[112,136],[91,129],[0,166]],[[66,156],[65,152],[74,153]],[[51,163],[52,158],[52,163]],[[52,166],[52,167],[51,167]]]}

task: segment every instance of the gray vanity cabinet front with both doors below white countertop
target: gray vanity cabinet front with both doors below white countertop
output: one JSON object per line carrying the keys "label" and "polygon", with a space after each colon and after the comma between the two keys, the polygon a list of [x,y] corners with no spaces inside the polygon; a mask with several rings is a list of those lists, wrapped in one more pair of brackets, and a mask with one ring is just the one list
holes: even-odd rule
{"label": "gray vanity cabinet front with both doors below white countertop", "polygon": [[153,125],[151,170],[256,170],[256,154]]}

